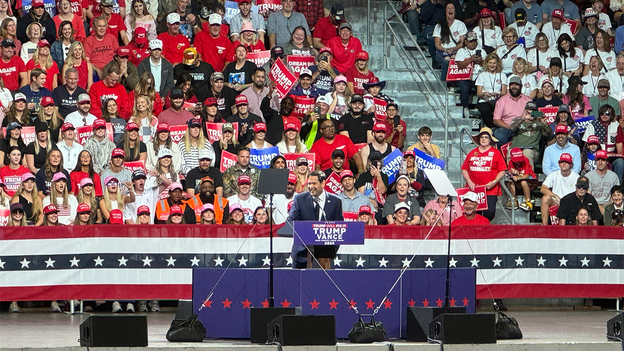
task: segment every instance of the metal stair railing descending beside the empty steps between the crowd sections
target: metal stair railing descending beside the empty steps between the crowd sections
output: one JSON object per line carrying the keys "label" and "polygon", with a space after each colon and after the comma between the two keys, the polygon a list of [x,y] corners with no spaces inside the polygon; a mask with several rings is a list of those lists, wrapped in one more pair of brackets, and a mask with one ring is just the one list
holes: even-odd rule
{"label": "metal stair railing descending beside the empty steps between the crowd sections", "polygon": [[[388,7],[390,7],[390,9],[392,10],[392,12],[390,12],[391,14],[393,14],[392,18],[396,18],[397,20],[396,24],[398,26],[402,26],[405,29],[405,33],[406,33],[405,36],[407,39],[404,40],[403,37],[398,35],[394,27],[392,26],[392,23],[388,19]],[[371,21],[371,0],[368,0],[367,8],[368,8],[368,12],[367,12],[367,22],[366,22],[366,43],[367,45],[370,46],[371,45],[371,22],[372,22]],[[431,66],[431,63],[429,63],[429,60],[425,56],[425,53],[421,49],[420,45],[418,45],[418,41],[416,40],[416,38],[414,38],[414,36],[410,32],[407,24],[405,24],[405,22],[401,18],[401,15],[398,13],[395,7],[395,4],[392,3],[392,1],[386,0],[386,3],[384,4],[383,16],[384,16],[383,18],[383,48],[384,50],[387,50],[389,54],[390,46],[387,45],[387,40],[388,40],[387,31],[388,29],[390,29],[390,32],[392,33],[394,41],[399,44],[399,45],[396,45],[396,47],[400,49],[402,53],[402,58],[408,64],[407,65],[408,68],[411,68],[411,72],[415,73],[419,77],[420,81],[423,83],[423,86],[424,86],[424,93],[429,98],[429,101],[433,101],[435,107],[437,107],[433,109],[434,110],[433,112],[438,114],[439,111],[444,111],[443,112],[444,113],[444,161],[446,162],[446,167],[448,169],[448,163],[449,163],[448,160],[450,156],[449,155],[449,140],[448,140],[449,96],[448,96],[448,91],[446,89],[446,82],[442,82],[440,78],[435,74],[435,71],[433,67]],[[413,51],[412,50],[408,51],[405,48],[406,46],[416,48],[415,51],[418,51],[418,54],[420,56],[419,61],[414,60],[414,58],[410,54],[410,52],[413,52]],[[384,55],[383,57],[384,69],[388,68],[388,65],[387,65],[388,56],[389,55]],[[426,65],[425,67],[421,67],[422,62],[425,63]],[[428,72],[432,73],[435,78],[435,81],[433,82],[433,84],[431,83],[430,78],[426,77]]]}

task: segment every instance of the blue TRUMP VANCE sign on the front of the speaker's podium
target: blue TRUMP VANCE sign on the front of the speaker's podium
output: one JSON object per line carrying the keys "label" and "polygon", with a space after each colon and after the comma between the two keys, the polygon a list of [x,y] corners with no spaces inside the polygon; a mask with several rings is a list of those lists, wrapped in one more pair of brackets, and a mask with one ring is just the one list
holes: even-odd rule
{"label": "blue TRUMP VANCE sign on the front of the speaker's podium", "polygon": [[364,222],[295,221],[295,245],[364,245]]}

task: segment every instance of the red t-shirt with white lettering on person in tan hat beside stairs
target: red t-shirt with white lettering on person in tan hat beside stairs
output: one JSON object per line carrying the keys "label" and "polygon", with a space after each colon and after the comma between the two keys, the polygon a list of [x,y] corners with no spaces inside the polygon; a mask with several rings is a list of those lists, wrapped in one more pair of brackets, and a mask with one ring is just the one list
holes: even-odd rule
{"label": "red t-shirt with white lettering on person in tan hat beside stairs", "polygon": [[[499,172],[506,171],[507,165],[505,164],[503,155],[498,149],[490,147],[487,151],[481,153],[477,147],[470,151],[461,169],[468,171],[470,180],[476,185],[485,185],[493,181]],[[486,191],[486,195],[501,194],[500,183],[497,183],[492,189]]]}

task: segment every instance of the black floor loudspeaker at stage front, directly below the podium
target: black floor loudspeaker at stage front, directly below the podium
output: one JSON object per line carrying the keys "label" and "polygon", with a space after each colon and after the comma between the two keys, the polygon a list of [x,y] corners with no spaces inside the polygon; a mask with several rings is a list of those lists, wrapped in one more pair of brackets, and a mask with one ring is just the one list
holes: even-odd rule
{"label": "black floor loudspeaker at stage front, directly below the podium", "polygon": [[267,325],[267,340],[282,346],[336,345],[336,318],[281,315]]}

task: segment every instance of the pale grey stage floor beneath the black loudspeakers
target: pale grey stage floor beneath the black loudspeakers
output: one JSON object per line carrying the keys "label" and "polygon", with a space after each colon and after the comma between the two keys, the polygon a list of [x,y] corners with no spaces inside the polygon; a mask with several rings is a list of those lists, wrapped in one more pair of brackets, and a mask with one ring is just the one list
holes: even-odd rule
{"label": "pale grey stage floor beneath the black loudspeakers", "polygon": [[[501,340],[495,345],[445,345],[447,350],[622,350],[617,342],[605,337],[606,322],[612,311],[509,311],[515,317],[522,332],[522,340]],[[277,350],[275,345],[252,345],[247,340],[205,340],[201,344],[169,343],[165,333],[174,314],[172,312],[149,313],[149,349],[183,348],[211,351],[246,349],[253,351]],[[84,350],[78,344],[78,327],[88,317],[52,313],[0,313],[0,351],[5,350]],[[439,350],[436,344],[406,343],[404,340],[390,341],[395,350]],[[388,350],[387,345],[353,345],[339,342],[338,347],[284,347],[289,350],[336,350],[354,347],[365,350]],[[134,348],[133,348],[134,349]],[[107,348],[106,350],[129,350],[128,348]]]}

